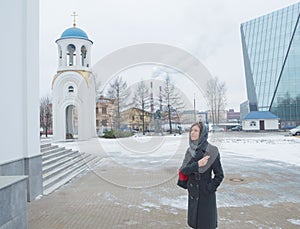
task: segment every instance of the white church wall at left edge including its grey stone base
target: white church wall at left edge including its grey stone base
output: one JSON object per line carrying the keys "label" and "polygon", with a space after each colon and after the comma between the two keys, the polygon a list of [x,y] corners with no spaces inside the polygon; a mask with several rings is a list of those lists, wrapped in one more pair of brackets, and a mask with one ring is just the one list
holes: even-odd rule
{"label": "white church wall at left edge including its grey stone base", "polygon": [[0,1],[0,26],[0,202],[8,213],[0,214],[0,228],[27,228],[26,200],[43,192],[39,0]]}

